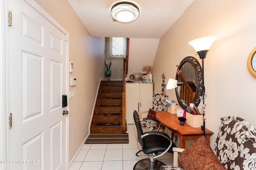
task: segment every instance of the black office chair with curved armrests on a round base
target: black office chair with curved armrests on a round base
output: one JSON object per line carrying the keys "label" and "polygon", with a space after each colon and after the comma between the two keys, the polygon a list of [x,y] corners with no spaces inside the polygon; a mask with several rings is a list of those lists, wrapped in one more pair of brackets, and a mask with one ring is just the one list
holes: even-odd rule
{"label": "black office chair with curved armrests on a round base", "polygon": [[[142,127],[140,125],[140,119],[138,117],[138,112],[134,110],[133,112],[134,122],[138,131],[138,140],[142,147],[142,150],[136,153],[136,156],[142,151],[149,157],[147,159],[142,159],[134,165],[134,170],[159,170],[163,162],[156,160],[156,158],[164,155],[166,152],[172,152],[172,148],[176,147],[172,143],[172,139],[166,134],[158,131],[149,131],[143,133]],[[158,152],[162,152],[158,155]],[[173,152],[172,152],[173,153]]]}

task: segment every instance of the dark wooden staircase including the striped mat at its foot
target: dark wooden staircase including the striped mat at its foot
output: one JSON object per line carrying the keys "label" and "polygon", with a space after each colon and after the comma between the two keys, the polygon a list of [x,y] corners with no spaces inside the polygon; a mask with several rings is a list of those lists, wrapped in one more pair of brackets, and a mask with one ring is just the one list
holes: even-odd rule
{"label": "dark wooden staircase including the striped mat at its foot", "polygon": [[85,143],[129,143],[123,129],[123,88],[123,81],[101,81]]}

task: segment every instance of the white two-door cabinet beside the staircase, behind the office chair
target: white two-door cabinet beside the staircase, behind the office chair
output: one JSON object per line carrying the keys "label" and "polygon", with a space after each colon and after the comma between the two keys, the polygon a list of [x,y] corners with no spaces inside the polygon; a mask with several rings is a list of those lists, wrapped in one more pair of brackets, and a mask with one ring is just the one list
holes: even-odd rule
{"label": "white two-door cabinet beside the staircase, behind the office chair", "polygon": [[152,83],[126,83],[126,122],[134,124],[133,112],[148,111],[153,103]]}

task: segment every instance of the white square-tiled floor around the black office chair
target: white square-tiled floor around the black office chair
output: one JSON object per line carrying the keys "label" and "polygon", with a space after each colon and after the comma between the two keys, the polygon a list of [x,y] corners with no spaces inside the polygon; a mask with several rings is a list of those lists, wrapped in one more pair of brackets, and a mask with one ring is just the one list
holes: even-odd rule
{"label": "white square-tiled floor around the black office chair", "polygon": [[[135,155],[141,149],[135,125],[127,125],[127,133],[127,144],[84,144],[69,170],[132,170],[136,162],[145,157]],[[173,154],[166,153],[159,160],[172,165]]]}

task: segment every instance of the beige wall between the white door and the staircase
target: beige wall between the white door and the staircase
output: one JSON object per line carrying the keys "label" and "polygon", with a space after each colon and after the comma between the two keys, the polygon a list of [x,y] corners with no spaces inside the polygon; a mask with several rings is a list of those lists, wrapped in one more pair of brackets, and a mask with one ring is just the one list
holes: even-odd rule
{"label": "beige wall between the white door and the staircase", "polygon": [[69,160],[71,161],[90,131],[100,78],[104,77],[104,39],[91,37],[67,0],[35,0],[69,33],[69,60],[77,78],[75,97],[69,100]]}

